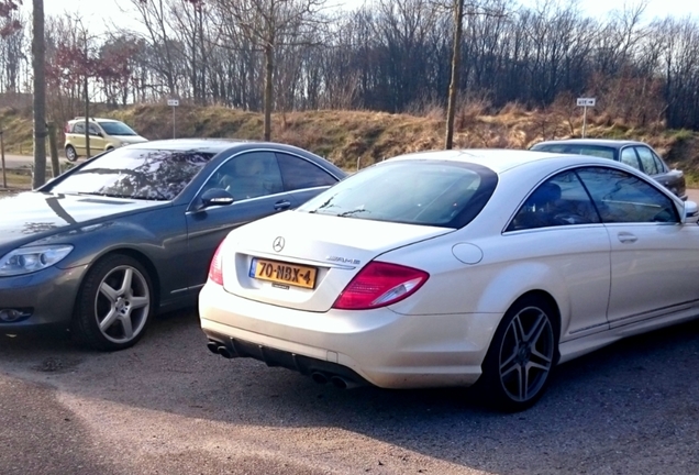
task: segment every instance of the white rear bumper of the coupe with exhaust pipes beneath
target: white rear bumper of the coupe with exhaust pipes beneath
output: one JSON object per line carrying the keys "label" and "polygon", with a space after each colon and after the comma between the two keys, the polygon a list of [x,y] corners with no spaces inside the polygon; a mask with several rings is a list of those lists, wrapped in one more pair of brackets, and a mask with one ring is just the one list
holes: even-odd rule
{"label": "white rear bumper of the coupe with exhaust pipes beneath", "polygon": [[214,284],[201,290],[199,314],[209,340],[234,355],[382,388],[473,385],[501,318],[403,316],[388,308],[306,312],[240,298]]}

